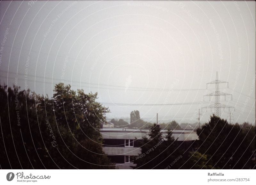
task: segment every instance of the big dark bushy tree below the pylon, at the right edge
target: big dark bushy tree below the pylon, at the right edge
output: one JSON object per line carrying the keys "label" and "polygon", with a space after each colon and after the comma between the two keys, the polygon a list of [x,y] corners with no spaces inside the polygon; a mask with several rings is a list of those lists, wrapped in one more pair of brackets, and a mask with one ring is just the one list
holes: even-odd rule
{"label": "big dark bushy tree below the pylon, at the right edge", "polygon": [[[249,130],[240,129],[227,120],[213,115],[211,120],[201,129],[199,136],[199,152],[211,156],[213,167],[223,169],[250,169],[255,151],[255,126]],[[210,165],[206,162],[205,165]]]}

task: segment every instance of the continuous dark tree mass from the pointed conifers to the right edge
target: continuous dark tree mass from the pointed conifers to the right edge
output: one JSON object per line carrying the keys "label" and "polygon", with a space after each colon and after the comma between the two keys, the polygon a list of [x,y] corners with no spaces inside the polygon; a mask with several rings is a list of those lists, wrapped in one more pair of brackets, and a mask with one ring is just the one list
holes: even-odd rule
{"label": "continuous dark tree mass from the pointed conifers to the right edge", "polygon": [[140,156],[134,157],[135,169],[255,168],[255,126],[248,123],[240,127],[213,115],[197,129],[197,141],[185,144],[171,135],[163,138],[159,127],[151,127]]}

